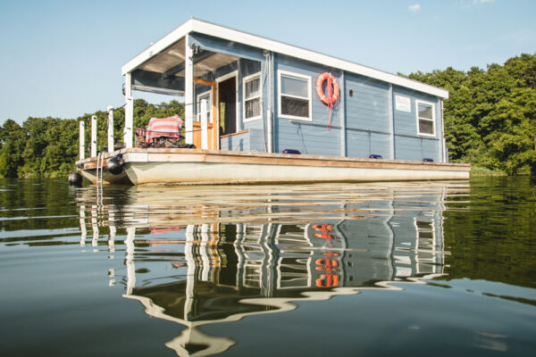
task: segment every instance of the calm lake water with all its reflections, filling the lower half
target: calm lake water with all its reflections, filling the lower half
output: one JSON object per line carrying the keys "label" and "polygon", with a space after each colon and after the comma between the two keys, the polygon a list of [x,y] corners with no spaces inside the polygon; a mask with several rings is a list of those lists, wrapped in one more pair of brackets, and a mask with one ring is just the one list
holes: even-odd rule
{"label": "calm lake water with all its reflections, filling the lower half", "polygon": [[0,355],[532,355],[527,178],[0,180]]}

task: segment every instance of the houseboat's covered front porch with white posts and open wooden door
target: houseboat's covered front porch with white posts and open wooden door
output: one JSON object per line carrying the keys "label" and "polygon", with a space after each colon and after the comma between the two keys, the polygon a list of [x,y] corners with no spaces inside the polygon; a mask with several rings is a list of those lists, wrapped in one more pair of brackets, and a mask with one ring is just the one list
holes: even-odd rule
{"label": "houseboat's covered front porch with white posts and open wooden door", "polygon": [[272,53],[211,36],[216,28],[191,19],[122,67],[126,148],[136,146],[133,92],[142,91],[184,98],[185,144],[272,152]]}

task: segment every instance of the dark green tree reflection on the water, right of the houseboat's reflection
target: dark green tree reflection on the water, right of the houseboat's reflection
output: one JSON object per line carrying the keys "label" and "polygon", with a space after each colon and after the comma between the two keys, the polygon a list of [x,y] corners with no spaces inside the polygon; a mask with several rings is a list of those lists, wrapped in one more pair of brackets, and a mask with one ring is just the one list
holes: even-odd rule
{"label": "dark green tree reflection on the water, right of the houseboat's reflection", "polygon": [[536,286],[534,178],[477,177],[443,212],[445,279]]}

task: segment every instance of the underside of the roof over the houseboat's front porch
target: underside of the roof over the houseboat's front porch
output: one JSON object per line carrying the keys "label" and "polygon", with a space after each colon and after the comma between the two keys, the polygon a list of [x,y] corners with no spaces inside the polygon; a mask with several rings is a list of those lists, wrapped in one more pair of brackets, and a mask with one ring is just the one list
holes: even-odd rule
{"label": "underside of the roof over the houseboat's front porch", "polygon": [[[156,73],[166,73],[171,71],[170,76],[184,77],[185,59],[185,38],[180,38],[172,46],[156,54],[147,62],[142,63],[138,69]],[[202,77],[206,73],[215,71],[231,62],[235,62],[239,57],[229,54],[206,53],[194,56],[194,77]],[[174,71],[174,69],[179,71]]]}

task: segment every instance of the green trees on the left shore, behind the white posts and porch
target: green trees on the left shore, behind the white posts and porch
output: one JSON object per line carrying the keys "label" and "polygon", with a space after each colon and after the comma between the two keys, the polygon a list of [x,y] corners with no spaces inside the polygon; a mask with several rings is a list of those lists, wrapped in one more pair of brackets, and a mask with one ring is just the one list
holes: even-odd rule
{"label": "green trees on the left shore, behind the white posts and porch", "polygon": [[[162,118],[179,114],[184,117],[184,105],[147,104],[134,101],[134,126],[144,128],[152,117]],[[107,143],[107,113],[86,113],[78,119],[28,118],[22,126],[5,120],[0,126],[0,177],[4,178],[64,178],[76,169],[79,155],[79,121],[86,123],[86,147],[89,148],[91,116],[97,117],[97,148],[104,150]],[[113,111],[113,136],[121,142],[124,108]]]}

